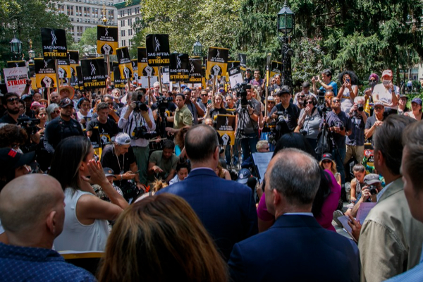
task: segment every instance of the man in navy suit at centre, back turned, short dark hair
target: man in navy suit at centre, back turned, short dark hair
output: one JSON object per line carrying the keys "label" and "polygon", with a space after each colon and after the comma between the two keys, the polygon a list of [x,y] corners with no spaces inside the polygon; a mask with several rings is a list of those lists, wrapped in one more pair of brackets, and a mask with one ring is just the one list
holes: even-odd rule
{"label": "man in navy suit at centre, back turned, short dark hair", "polygon": [[228,260],[235,243],[258,232],[252,190],[219,178],[214,172],[219,162],[219,143],[214,128],[207,125],[190,128],[185,136],[185,151],[192,171],[185,180],[157,194],[169,192],[183,197]]}

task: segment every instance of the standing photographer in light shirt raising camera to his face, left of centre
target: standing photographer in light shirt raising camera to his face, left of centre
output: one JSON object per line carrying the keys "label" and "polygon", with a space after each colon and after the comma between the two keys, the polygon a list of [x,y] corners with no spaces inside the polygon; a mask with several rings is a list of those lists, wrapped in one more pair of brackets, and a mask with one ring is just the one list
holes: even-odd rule
{"label": "standing photographer in light shirt raising camera to his face, left of centre", "polygon": [[[156,129],[152,109],[145,104],[145,95],[142,92],[129,92],[126,96],[128,106],[121,112],[118,127],[131,137],[137,166],[140,168],[140,182],[147,183],[147,161],[149,155],[149,138],[145,133]],[[135,134],[137,133],[137,134]]]}

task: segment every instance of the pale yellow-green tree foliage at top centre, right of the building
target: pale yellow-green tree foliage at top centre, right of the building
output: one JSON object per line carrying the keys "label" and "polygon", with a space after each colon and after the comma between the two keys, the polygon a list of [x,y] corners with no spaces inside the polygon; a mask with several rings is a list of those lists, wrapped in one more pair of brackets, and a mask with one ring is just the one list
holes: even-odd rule
{"label": "pale yellow-green tree foliage at top centre, right of the building", "polygon": [[240,0],[142,0],[131,55],[136,55],[136,47],[145,46],[149,33],[168,34],[171,51],[180,53],[192,54],[197,36],[205,56],[208,47],[231,47],[239,5]]}

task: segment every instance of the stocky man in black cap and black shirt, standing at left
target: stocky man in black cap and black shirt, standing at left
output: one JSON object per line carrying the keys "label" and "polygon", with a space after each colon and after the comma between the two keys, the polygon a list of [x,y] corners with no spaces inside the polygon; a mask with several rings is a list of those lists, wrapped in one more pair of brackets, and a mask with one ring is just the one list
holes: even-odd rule
{"label": "stocky man in black cap and black shirt, standing at left", "polygon": [[73,101],[69,98],[61,100],[59,109],[59,118],[54,118],[54,120],[50,121],[44,130],[44,148],[50,154],[54,153],[56,146],[66,137],[84,135],[80,123],[71,118]]}

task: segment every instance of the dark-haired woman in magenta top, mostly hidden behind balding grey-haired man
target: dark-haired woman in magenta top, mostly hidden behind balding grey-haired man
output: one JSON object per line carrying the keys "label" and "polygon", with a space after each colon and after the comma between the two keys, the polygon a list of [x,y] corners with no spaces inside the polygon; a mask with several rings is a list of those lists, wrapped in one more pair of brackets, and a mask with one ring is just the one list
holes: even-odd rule
{"label": "dark-haired woman in magenta top, mostly hidden behind balding grey-haired man", "polygon": [[[276,154],[281,149],[286,148],[297,148],[314,156],[314,150],[312,149],[312,146],[309,145],[309,142],[307,142],[306,138],[300,133],[288,133],[283,135],[281,139],[278,140],[278,144],[276,144],[275,152],[272,158],[276,156]],[[338,203],[338,199],[341,197],[341,187],[337,185],[336,180],[332,178],[333,176],[331,176],[331,173],[329,174],[327,171],[321,170],[319,190],[317,191],[316,197],[314,197],[312,213],[317,222],[319,222],[323,228],[335,231],[335,228],[332,226],[331,222],[333,218],[333,212],[335,212],[338,204],[336,204],[336,207],[333,210],[332,207],[333,200],[336,200],[336,203]],[[257,216],[259,232],[266,231],[274,223],[274,214],[267,212],[264,194],[262,195],[259,202],[259,207],[257,208]]]}

